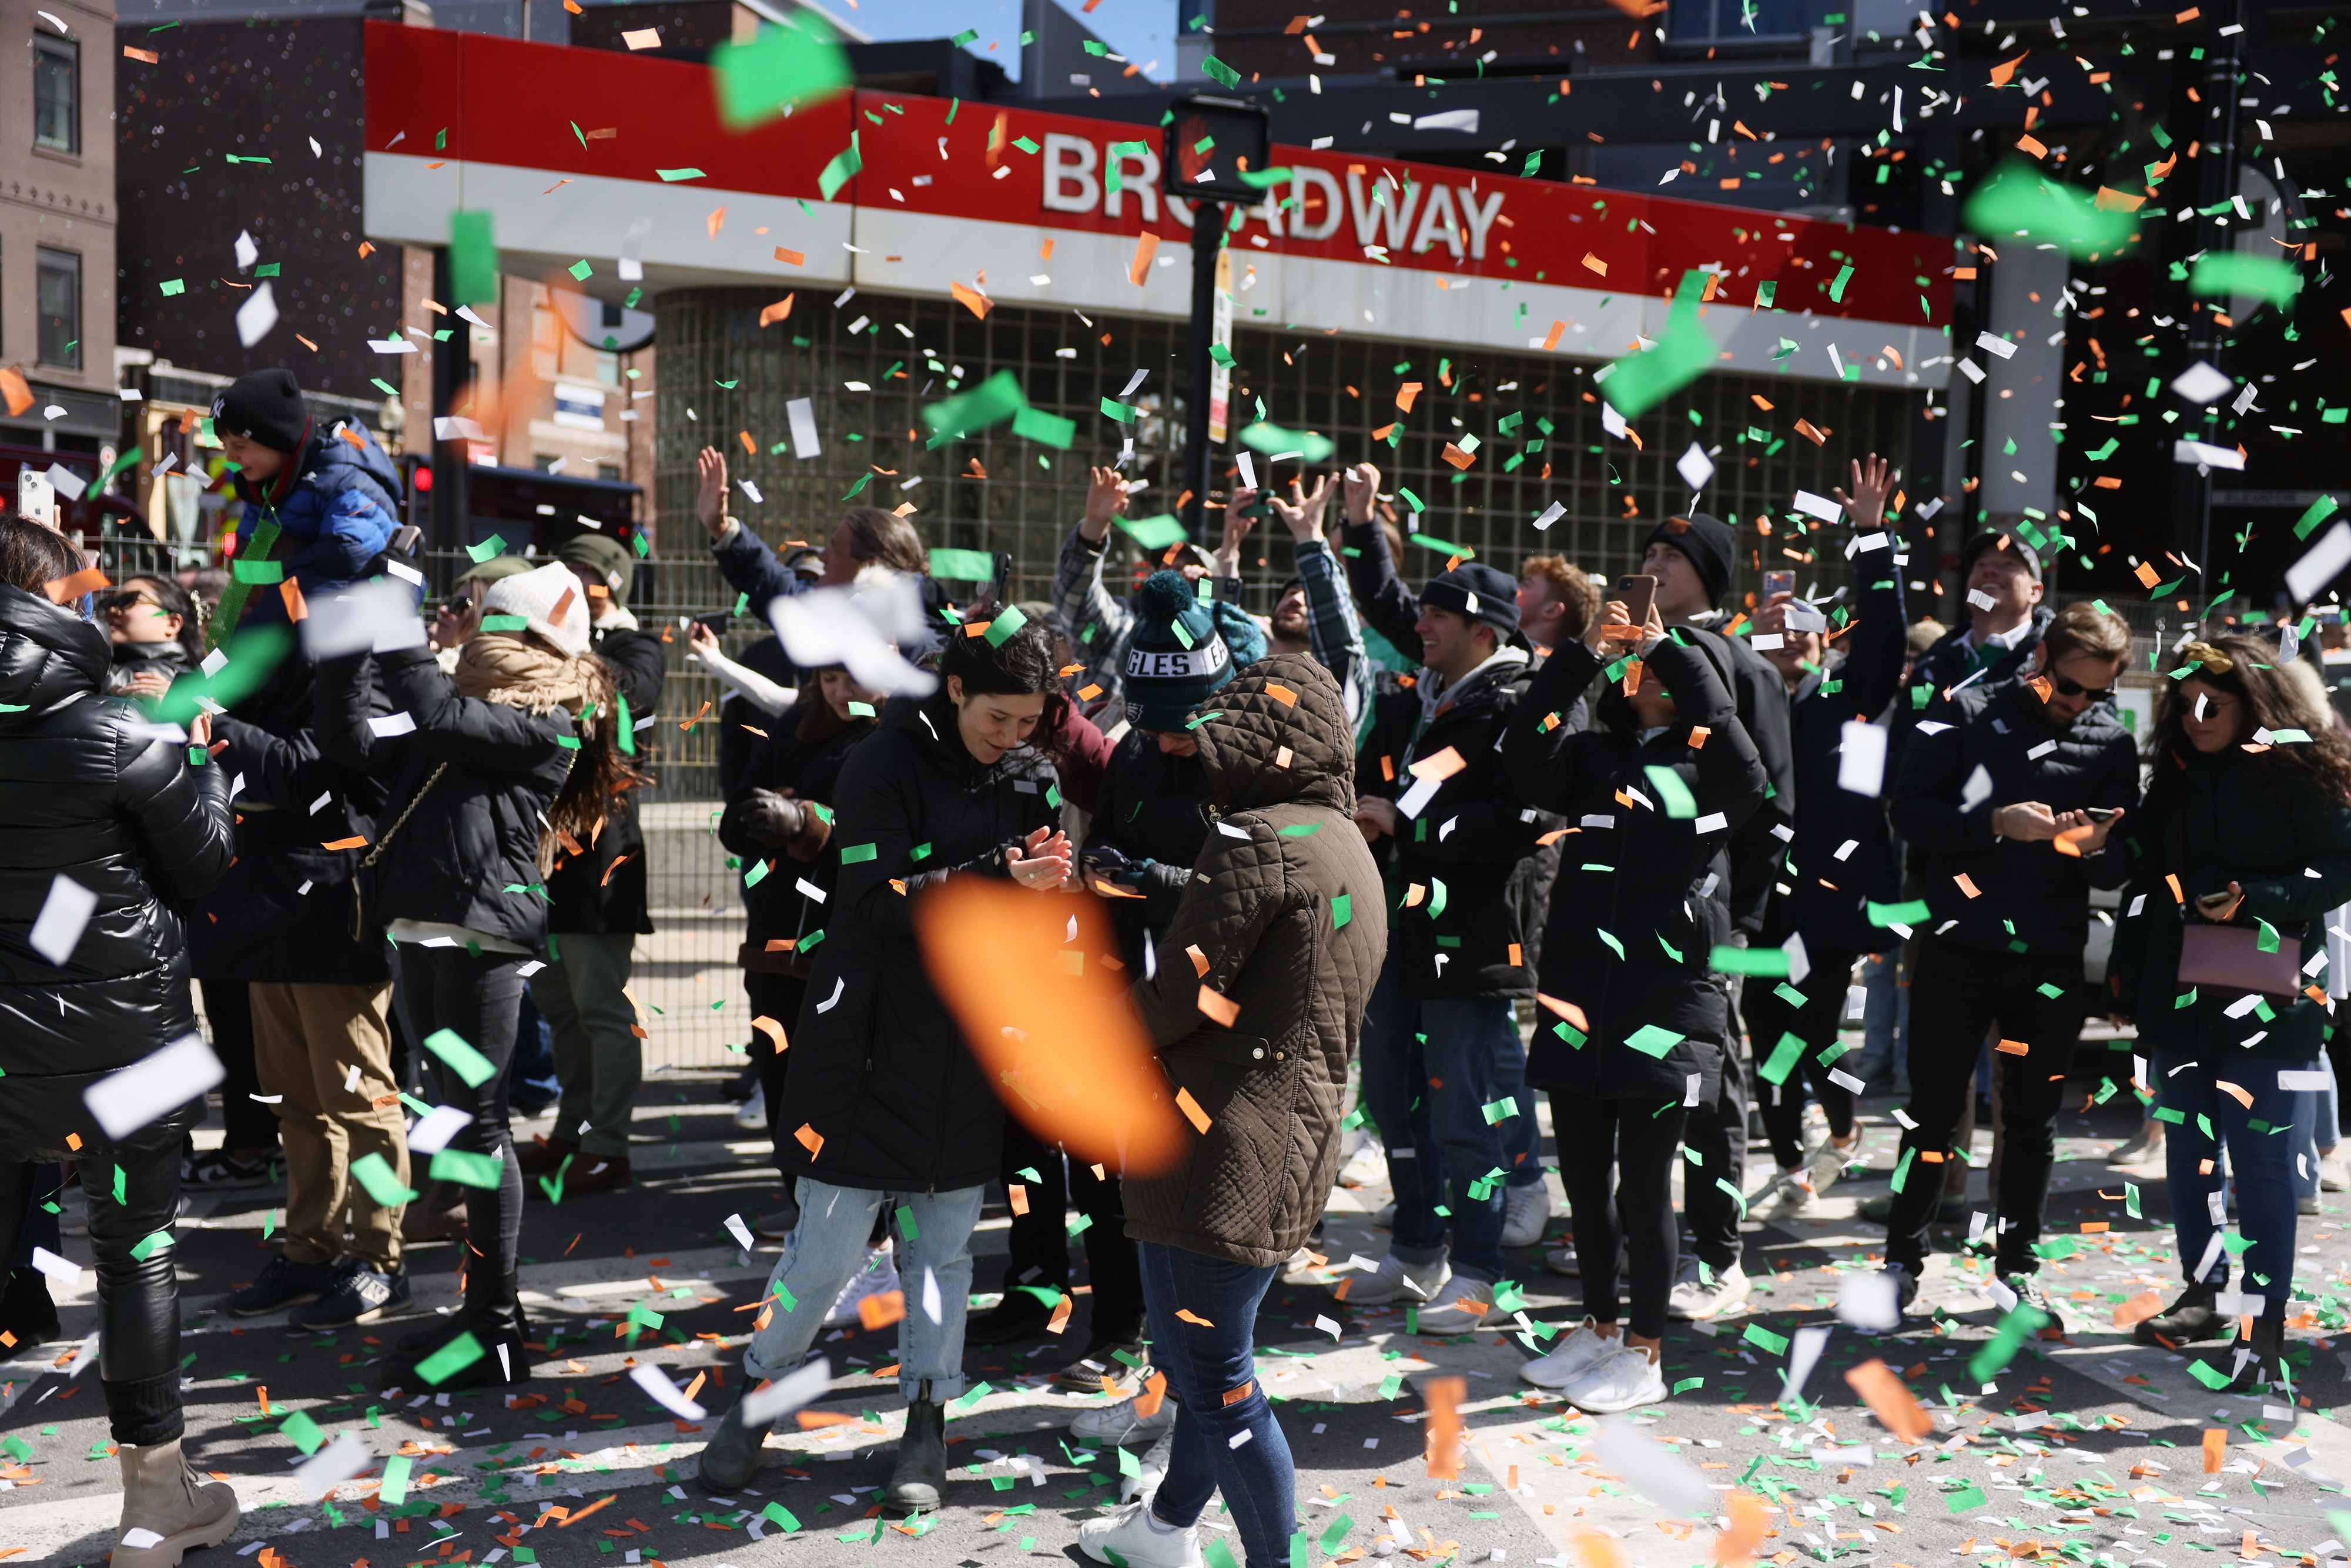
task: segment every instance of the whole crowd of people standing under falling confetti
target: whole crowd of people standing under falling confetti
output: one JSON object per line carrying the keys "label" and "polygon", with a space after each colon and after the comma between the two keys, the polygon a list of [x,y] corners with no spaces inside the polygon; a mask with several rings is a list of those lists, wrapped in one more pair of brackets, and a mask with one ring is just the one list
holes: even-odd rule
{"label": "whole crowd of people standing under falling confetti", "polygon": [[[463,1309],[397,1338],[383,1373],[449,1389],[531,1378],[527,1194],[632,1180],[637,736],[665,670],[628,609],[635,555],[590,531],[482,559],[428,625],[364,433],[320,430],[284,371],[240,378],[212,421],[245,503],[230,571],[106,583],[66,536],[0,517],[0,1312],[16,1338],[56,1333],[28,1260],[78,1197],[118,1563],[176,1563],[237,1516],[181,1458],[153,1237],[183,1190],[282,1171],[277,1248],[228,1312],[301,1328],[402,1316],[402,1246],[463,1234]],[[1321,1260],[1345,1124],[1378,1135],[1394,1190],[1387,1251],[1345,1300],[1458,1335],[1507,1316],[1507,1253],[1552,1218],[1538,1091],[1573,1232],[1542,1260],[1580,1276],[1582,1314],[1521,1378],[1592,1413],[1657,1403],[1667,1324],[1747,1298],[1747,1213],[1806,1213],[1867,1154],[1869,1051],[1841,1065],[1855,985],[1909,1023],[1883,1272],[1850,1321],[1914,1309],[1989,1063],[1994,1182],[1968,1241],[2003,1305],[2062,1328],[2036,1279],[2055,1121],[2083,1023],[2109,1013],[2137,1025],[2182,1260],[2139,1333],[2226,1342],[2236,1387],[2273,1380],[2297,1192],[2332,1147],[2283,1133],[2332,1121],[2311,1105],[2332,1100],[2351,745],[2283,623],[2161,649],[2132,736],[2130,628],[2043,604],[2024,534],[1970,538],[1965,621],[1914,625],[1893,482],[1869,456],[1834,491],[1853,569],[1827,597],[1775,571],[1742,592],[1737,534],[1702,512],[1615,581],[1545,555],[1413,585],[1368,463],[1286,496],[1237,484],[1215,550],[1166,545],[1119,592],[1128,487],[1098,468],[1046,599],[955,604],[889,510],[778,557],[703,451],[712,559],[778,628],[738,658],[708,623],[689,646],[731,693],[745,1117],[790,1192],[759,1218],[783,1246],[703,1483],[750,1483],[769,1425],[823,1389],[828,1324],[900,1291],[907,1418],[882,1500],[940,1507],[966,1342],[1067,1324],[1074,1206],[1091,1307],[1060,1380],[1131,1394],[1077,1429],[1154,1443],[1147,1486],[1081,1547],[1187,1568],[1223,1493],[1246,1561],[1288,1561],[1253,1321]],[[1274,527],[1293,576],[1258,616],[1241,552]],[[360,646],[315,635],[324,604]],[[999,1098],[919,919],[969,879],[1105,905],[1100,973],[1199,1128],[1171,1168],[1065,1157]],[[2104,983],[2083,969],[2095,891],[2116,891]],[[195,1034],[190,980],[226,1074],[202,1154],[183,1084],[106,1110]],[[395,1058],[426,1074],[411,1105]],[[513,1112],[550,1103],[555,1133],[517,1147]],[[997,1182],[1011,1255],[976,1281]]]}

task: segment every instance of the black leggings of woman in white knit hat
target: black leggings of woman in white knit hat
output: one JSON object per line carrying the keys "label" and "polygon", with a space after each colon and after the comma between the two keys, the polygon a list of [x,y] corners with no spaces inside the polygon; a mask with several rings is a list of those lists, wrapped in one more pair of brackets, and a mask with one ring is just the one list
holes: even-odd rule
{"label": "black leggings of woman in white knit hat", "polygon": [[[465,1321],[484,1342],[489,1335],[522,1333],[522,1300],[515,1293],[522,1171],[515,1166],[515,1135],[505,1126],[505,1067],[515,1056],[515,1025],[522,1018],[524,961],[515,952],[470,957],[463,947],[409,945],[400,952],[400,990],[421,1056],[430,1063],[435,1095],[442,1105],[473,1114],[449,1147],[498,1161],[496,1187],[465,1187]],[[440,1030],[451,1030],[489,1060],[494,1072],[480,1088],[470,1088],[433,1056],[428,1041]]]}

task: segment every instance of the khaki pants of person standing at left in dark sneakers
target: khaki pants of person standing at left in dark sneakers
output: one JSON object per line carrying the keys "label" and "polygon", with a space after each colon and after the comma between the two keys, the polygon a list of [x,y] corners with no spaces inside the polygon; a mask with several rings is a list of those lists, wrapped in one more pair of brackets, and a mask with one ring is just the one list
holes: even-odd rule
{"label": "khaki pants of person standing at left in dark sneakers", "polygon": [[[355,1255],[400,1267],[400,1206],[381,1206],[350,1166],[381,1154],[409,1180],[393,1084],[390,985],[252,985],[254,1067],[277,1103],[287,1159],[284,1251],[294,1262]],[[353,1072],[357,1067],[357,1072]]]}

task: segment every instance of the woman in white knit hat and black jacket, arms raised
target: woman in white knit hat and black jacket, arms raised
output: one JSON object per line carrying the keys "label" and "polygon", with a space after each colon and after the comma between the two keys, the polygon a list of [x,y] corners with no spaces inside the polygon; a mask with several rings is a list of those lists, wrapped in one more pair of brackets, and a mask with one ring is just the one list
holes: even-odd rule
{"label": "woman in white knit hat and black jacket, arms raised", "polygon": [[[588,649],[588,604],[569,567],[491,583],[482,628],[454,677],[421,644],[374,656],[393,722],[369,722],[362,658],[324,663],[317,677],[331,715],[324,743],[395,776],[353,919],[400,945],[411,1037],[433,1058],[442,1103],[468,1114],[447,1147],[494,1164],[494,1180],[468,1199],[465,1312],[400,1340],[388,1387],[531,1375],[515,1291],[522,1173],[505,1065],[524,978],[548,947],[548,872],[642,783],[621,750],[614,672]],[[402,717],[414,731],[383,738],[404,729]],[[473,1342],[458,1345],[468,1333]]]}

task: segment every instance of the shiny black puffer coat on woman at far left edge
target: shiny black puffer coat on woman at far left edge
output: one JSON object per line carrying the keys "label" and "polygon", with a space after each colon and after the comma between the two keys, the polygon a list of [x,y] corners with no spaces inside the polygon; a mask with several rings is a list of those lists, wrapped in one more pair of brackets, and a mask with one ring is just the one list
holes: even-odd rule
{"label": "shiny black puffer coat on woman at far left edge", "polygon": [[[228,778],[139,733],[101,701],[106,632],[0,585],[0,1150],[71,1159],[110,1147],[82,1091],[195,1032],[176,903],[209,891],[233,853]],[[96,893],[63,966],[33,952],[56,877]],[[197,1095],[122,1147],[176,1145]]]}

